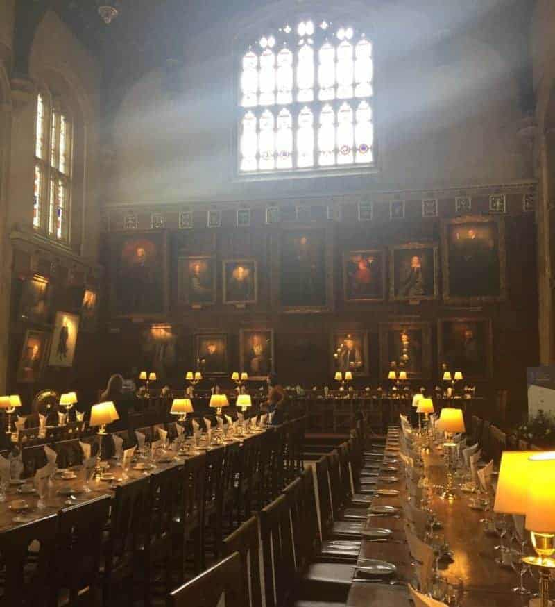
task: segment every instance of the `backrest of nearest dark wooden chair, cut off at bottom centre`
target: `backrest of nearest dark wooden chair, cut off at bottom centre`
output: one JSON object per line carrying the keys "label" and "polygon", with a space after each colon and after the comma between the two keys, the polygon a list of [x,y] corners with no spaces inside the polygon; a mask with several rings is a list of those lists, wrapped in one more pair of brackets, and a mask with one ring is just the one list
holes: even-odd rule
{"label": "backrest of nearest dark wooden chair, cut off at bottom centre", "polygon": [[225,607],[246,607],[248,596],[243,579],[241,557],[234,552],[173,590],[167,599],[167,607],[217,607],[222,594]]}

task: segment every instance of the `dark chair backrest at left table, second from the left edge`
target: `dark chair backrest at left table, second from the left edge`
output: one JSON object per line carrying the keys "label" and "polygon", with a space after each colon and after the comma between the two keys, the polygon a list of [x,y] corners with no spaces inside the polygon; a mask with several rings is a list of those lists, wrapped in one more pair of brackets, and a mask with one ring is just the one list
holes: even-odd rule
{"label": "dark chair backrest at left table, second from the left edge", "polygon": [[54,578],[56,605],[67,595],[69,604],[75,605],[85,594],[93,597],[94,604],[110,501],[110,496],[105,495],[60,510]]}

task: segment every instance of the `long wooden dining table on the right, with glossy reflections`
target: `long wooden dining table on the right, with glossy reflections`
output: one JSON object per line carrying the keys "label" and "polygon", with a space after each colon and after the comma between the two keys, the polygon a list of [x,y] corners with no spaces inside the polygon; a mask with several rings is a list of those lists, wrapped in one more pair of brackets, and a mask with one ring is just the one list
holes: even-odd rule
{"label": "long wooden dining table on the right, with glossy reflections", "polygon": [[[391,582],[376,583],[353,581],[348,596],[348,607],[409,607],[409,592],[407,583],[415,578],[415,571],[409,553],[409,546],[404,534],[403,501],[409,497],[402,474],[402,461],[398,456],[398,433],[389,429],[386,438],[384,458],[396,458],[392,465],[398,467],[398,482],[383,482],[378,479],[377,490],[397,489],[395,497],[377,494],[372,506],[394,506],[398,508],[394,515],[368,514],[365,529],[386,527],[393,531],[389,540],[371,540],[363,538],[357,565],[364,566],[364,559],[384,560],[397,567],[395,579]],[[425,454],[427,475],[433,485],[445,485],[445,465],[443,458],[432,450]],[[397,474],[397,473],[395,473]],[[487,535],[484,517],[493,513],[472,510],[468,505],[468,494],[455,489],[456,499],[446,500],[434,494],[430,506],[436,518],[441,522],[438,533],[443,533],[445,542],[452,553],[452,561],[439,562],[439,574],[447,577],[454,576],[463,582],[463,607],[524,607],[528,605],[529,597],[521,597],[511,592],[518,585],[518,576],[511,567],[501,567],[495,563],[499,544],[497,535]],[[525,585],[530,590],[537,589],[537,582],[527,574]]]}

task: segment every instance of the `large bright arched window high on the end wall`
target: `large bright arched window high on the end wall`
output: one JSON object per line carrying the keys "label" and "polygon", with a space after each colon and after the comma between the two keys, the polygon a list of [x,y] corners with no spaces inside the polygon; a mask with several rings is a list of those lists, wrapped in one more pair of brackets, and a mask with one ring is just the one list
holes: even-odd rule
{"label": "large bright arched window high on the end wall", "polygon": [[373,58],[366,35],[305,19],[250,44],[239,78],[239,172],[373,165]]}

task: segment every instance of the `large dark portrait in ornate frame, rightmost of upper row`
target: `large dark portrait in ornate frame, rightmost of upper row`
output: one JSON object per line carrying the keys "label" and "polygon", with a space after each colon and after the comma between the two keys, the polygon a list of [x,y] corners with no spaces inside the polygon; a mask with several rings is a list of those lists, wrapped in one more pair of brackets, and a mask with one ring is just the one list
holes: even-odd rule
{"label": "large dark portrait in ornate frame, rightmost of upper row", "polygon": [[505,298],[504,223],[461,217],[443,224],[443,298],[459,304]]}

